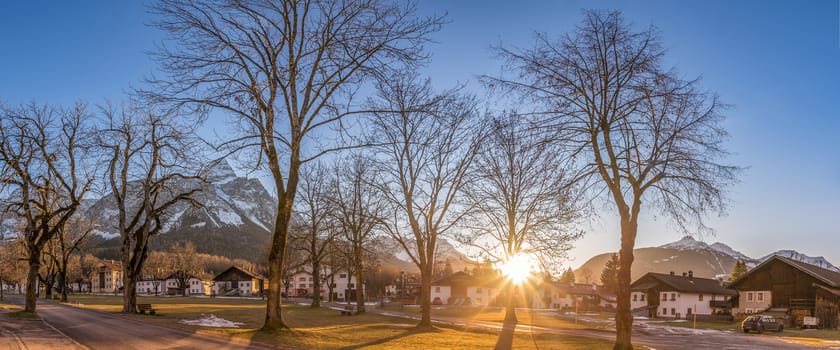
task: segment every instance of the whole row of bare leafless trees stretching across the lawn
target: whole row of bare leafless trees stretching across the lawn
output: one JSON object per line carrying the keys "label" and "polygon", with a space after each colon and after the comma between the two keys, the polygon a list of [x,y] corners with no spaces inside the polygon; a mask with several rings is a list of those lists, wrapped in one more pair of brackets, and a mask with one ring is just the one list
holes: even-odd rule
{"label": "whole row of bare leafless trees stretching across the lawn", "polygon": [[[481,115],[461,89],[436,92],[413,73],[444,22],[417,16],[414,3],[161,0],[153,11],[169,34],[155,56],[164,75],[140,95],[165,107],[109,110],[99,137],[83,138],[110,151],[105,178],[120,212],[126,312],[161,218],[174,203],[194,202],[201,188],[200,171],[189,166],[197,158],[185,153],[200,149],[189,136],[196,124],[178,111],[226,112],[240,133],[220,149],[253,156],[273,181],[266,330],[287,328],[281,281],[302,172],[337,151],[371,150],[354,152],[336,174],[344,178],[331,196],[338,230],[357,256],[358,242],[377,229],[400,242],[421,271],[423,327],[438,237],[458,236],[457,229],[500,261],[556,258],[576,237],[564,225],[603,199],[620,218],[617,349],[632,348],[630,268],[643,208],[683,230],[708,230],[704,215],[724,209],[724,190],[739,170],[720,163],[725,106],[698,80],[663,67],[655,28],[633,30],[618,12],[587,11],[576,30],[537,34],[532,48],[496,48],[512,74],[482,81],[519,110]],[[367,91],[377,93],[358,97]],[[44,123],[34,107],[4,111],[13,115],[4,116],[0,134],[2,192],[19,199],[5,208],[26,219],[37,270],[33,253],[93,184],[93,172],[77,161],[89,150],[77,146],[85,109],[59,113],[57,124]],[[192,185],[172,185],[181,180]],[[330,231],[317,221],[305,224],[309,232]],[[310,244],[310,255],[321,248]],[[354,269],[363,276],[363,265]]]}

